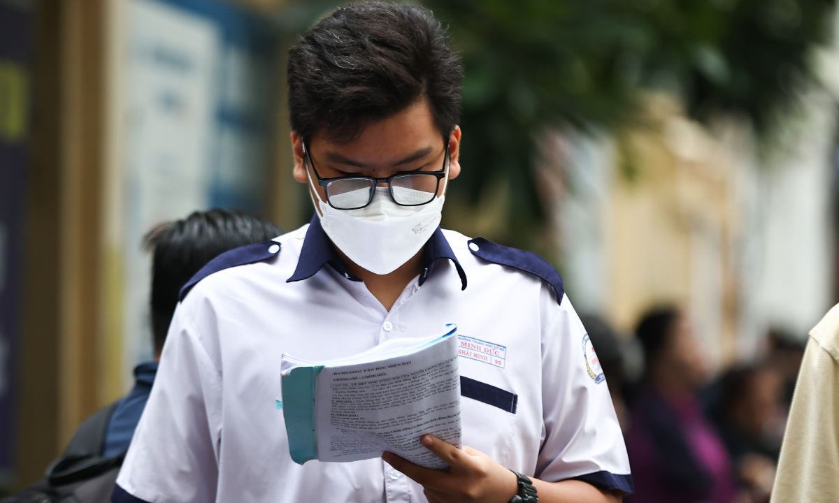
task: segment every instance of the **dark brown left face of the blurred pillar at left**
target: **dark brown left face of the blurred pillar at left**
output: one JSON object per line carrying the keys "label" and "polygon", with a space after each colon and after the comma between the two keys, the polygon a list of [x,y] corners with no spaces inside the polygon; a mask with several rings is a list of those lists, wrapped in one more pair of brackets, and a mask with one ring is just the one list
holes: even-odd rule
{"label": "dark brown left face of the blurred pillar at left", "polygon": [[26,197],[23,337],[20,345],[18,486],[44,473],[58,449],[60,30],[61,0],[35,18],[32,163]]}

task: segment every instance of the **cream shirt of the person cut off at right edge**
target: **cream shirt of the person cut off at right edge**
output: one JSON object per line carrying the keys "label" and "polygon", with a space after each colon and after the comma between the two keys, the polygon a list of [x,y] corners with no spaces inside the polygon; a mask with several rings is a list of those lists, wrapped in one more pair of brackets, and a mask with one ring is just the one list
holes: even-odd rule
{"label": "cream shirt of the person cut off at right edge", "polygon": [[839,306],[810,330],[787,418],[773,503],[839,497]]}

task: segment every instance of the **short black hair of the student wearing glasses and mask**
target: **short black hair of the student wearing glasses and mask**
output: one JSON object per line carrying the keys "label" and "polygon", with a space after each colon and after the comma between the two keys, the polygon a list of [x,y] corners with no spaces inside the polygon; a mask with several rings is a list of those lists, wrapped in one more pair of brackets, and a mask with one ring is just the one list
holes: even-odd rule
{"label": "short black hair of the student wearing glasses and mask", "polygon": [[305,141],[322,132],[347,143],[425,96],[448,136],[460,120],[462,75],[460,55],[429,10],[351,3],[289,49],[291,128]]}

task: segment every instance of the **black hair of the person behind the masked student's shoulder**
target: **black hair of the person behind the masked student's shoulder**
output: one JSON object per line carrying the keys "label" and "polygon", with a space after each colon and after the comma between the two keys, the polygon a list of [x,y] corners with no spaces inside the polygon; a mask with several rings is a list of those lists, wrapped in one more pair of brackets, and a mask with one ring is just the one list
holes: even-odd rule
{"label": "black hair of the person behind the masked student's shoulder", "polygon": [[268,241],[283,231],[270,220],[239,210],[195,211],[185,219],[154,227],[143,237],[152,252],[149,296],[155,353],[163,348],[178,295],[195,273],[223,252]]}

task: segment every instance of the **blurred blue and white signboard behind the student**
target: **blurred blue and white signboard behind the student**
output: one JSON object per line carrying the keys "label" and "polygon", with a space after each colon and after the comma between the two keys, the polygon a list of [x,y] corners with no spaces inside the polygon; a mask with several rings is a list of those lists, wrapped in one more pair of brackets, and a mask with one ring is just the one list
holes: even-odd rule
{"label": "blurred blue and white signboard behind the student", "polygon": [[222,0],[128,3],[122,378],[152,355],[142,236],[211,207],[263,213],[279,27]]}

